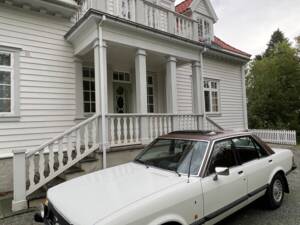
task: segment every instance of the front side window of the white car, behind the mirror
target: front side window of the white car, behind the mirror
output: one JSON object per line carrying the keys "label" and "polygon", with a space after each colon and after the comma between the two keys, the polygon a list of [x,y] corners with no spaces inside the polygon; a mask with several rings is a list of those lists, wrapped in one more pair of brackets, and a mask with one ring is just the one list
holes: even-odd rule
{"label": "front side window of the white car, behind the mirror", "polygon": [[218,141],[214,144],[208,175],[215,173],[216,167],[234,167],[237,165],[231,139]]}

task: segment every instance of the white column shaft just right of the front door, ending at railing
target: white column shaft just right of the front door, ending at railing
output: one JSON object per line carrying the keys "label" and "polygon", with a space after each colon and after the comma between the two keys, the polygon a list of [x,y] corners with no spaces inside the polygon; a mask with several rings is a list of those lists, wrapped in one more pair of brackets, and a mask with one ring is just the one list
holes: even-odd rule
{"label": "white column shaft just right of the front door, ending at railing", "polygon": [[135,56],[136,112],[147,113],[146,51],[138,49]]}

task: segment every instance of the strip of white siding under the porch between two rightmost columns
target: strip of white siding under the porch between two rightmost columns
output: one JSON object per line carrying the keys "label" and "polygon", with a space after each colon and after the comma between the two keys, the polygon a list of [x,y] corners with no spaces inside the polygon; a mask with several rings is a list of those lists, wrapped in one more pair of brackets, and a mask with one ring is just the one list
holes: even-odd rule
{"label": "strip of white siding under the porch between two rightmost columns", "polygon": [[191,64],[177,68],[177,106],[179,113],[192,113],[192,67]]}

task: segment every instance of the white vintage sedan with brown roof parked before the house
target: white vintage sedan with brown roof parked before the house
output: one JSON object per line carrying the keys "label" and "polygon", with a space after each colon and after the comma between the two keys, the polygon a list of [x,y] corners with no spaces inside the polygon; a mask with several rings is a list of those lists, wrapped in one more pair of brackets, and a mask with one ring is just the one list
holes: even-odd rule
{"label": "white vintage sedan with brown roof parked before the house", "polygon": [[177,131],[133,162],[75,178],[47,193],[35,220],[49,225],[215,224],[258,198],[289,193],[293,153],[248,132]]}

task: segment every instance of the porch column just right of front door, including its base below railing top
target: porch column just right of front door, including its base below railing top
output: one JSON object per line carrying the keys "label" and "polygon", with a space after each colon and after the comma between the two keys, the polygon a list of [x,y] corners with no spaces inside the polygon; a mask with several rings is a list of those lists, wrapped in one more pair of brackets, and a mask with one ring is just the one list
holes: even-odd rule
{"label": "porch column just right of front door, including its base below railing top", "polygon": [[[136,112],[146,114],[147,110],[147,67],[146,51],[138,49],[135,55],[135,88],[136,88]],[[148,117],[140,117],[140,137],[142,144],[149,143]]]}

